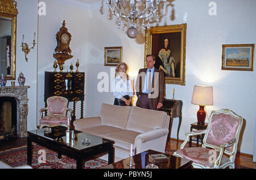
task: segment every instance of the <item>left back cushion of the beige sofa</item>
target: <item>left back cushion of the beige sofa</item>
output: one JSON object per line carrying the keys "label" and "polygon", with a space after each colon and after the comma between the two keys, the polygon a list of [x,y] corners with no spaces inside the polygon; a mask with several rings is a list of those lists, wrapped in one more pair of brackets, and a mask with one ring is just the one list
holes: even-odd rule
{"label": "left back cushion of the beige sofa", "polygon": [[115,106],[102,103],[100,111],[102,125],[125,129],[130,111],[131,106]]}

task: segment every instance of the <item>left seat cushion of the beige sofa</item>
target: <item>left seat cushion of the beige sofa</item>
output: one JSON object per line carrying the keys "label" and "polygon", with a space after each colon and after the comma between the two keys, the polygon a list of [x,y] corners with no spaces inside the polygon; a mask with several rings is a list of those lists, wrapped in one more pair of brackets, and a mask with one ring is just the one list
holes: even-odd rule
{"label": "left seat cushion of the beige sofa", "polygon": [[87,132],[92,135],[104,137],[105,135],[108,135],[110,133],[123,131],[123,129],[115,128],[115,127],[108,126],[108,125],[98,125],[98,126],[94,126],[94,127],[90,127],[90,128],[80,129],[80,131]]}

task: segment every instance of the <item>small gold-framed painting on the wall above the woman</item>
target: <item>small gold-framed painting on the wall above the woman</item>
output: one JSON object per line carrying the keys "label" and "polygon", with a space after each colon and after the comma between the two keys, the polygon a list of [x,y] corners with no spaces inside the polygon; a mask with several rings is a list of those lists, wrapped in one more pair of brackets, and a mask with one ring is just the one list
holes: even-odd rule
{"label": "small gold-framed painting on the wall above the woman", "polygon": [[104,66],[117,66],[122,62],[123,47],[105,47]]}

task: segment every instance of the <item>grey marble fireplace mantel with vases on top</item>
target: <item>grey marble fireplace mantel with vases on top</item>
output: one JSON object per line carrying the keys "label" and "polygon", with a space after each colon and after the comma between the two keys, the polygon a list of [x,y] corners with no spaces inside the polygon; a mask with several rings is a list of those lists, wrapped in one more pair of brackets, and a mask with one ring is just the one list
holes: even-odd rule
{"label": "grey marble fireplace mantel with vases on top", "polygon": [[30,86],[0,87],[0,97],[13,97],[17,102],[17,135],[27,136],[28,98],[27,89]]}

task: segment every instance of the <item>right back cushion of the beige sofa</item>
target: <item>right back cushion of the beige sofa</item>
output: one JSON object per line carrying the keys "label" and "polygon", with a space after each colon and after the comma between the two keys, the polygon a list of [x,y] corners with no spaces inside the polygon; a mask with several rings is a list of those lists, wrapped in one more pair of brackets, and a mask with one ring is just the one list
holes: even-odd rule
{"label": "right back cushion of the beige sofa", "polygon": [[164,111],[133,107],[125,129],[143,133],[156,128],[164,128],[166,120],[167,113]]}

